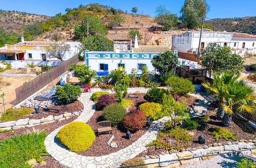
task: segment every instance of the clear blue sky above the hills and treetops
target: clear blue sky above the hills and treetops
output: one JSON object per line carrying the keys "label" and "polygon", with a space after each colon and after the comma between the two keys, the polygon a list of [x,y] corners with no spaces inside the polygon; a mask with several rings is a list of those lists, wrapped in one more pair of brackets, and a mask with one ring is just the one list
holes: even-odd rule
{"label": "clear blue sky above the hills and treetops", "polygon": [[[208,0],[210,11],[207,17],[212,18],[228,18],[228,17],[244,17],[256,16],[256,1],[255,0]],[[99,3],[102,5],[112,6],[116,9],[131,12],[132,7],[137,7],[139,13],[150,14],[155,16],[156,7],[165,5],[172,13],[180,15],[180,9],[183,6],[183,0],[137,0],[137,1],[82,1],[82,0],[1,0],[0,9],[3,10],[17,10],[27,13],[41,14],[54,16],[56,13],[65,13],[66,8],[75,8],[80,4],[88,5],[91,3]]]}

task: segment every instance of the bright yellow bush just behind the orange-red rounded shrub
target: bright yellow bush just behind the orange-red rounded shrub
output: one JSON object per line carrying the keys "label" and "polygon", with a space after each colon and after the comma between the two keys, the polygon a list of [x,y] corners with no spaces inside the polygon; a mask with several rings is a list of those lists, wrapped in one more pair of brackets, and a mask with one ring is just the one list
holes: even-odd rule
{"label": "bright yellow bush just behind the orange-red rounded shrub", "polygon": [[139,106],[141,112],[151,120],[158,120],[161,117],[162,105],[159,103],[143,103]]}

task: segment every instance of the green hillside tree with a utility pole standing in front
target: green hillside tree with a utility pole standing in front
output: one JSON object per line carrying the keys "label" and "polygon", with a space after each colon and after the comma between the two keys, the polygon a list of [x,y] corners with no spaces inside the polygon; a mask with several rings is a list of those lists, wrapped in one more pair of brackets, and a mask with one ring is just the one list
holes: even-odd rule
{"label": "green hillside tree with a utility pole standing in front", "polygon": [[104,24],[100,21],[99,17],[97,16],[85,16],[82,19],[82,22],[80,25],[75,25],[75,37],[78,39],[82,39],[83,37],[87,36],[87,21],[88,21],[88,29],[89,29],[89,35],[107,35],[108,31],[106,30]]}

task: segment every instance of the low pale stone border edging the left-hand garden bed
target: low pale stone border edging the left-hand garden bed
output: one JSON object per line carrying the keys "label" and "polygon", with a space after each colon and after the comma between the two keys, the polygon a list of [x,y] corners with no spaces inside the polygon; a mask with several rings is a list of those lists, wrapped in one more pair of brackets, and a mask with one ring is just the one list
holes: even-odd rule
{"label": "low pale stone border edging the left-hand garden bed", "polygon": [[[79,111],[77,112],[79,113]],[[50,116],[47,116],[46,118],[41,118],[41,119],[26,118],[26,119],[19,119],[17,121],[8,121],[8,122],[0,123],[0,130],[11,130],[11,129],[19,129],[19,128],[25,128],[25,127],[33,127],[40,124],[48,124],[55,121],[66,120],[72,116],[77,116],[79,114],[75,115],[75,113],[65,113],[59,116],[50,115]]]}

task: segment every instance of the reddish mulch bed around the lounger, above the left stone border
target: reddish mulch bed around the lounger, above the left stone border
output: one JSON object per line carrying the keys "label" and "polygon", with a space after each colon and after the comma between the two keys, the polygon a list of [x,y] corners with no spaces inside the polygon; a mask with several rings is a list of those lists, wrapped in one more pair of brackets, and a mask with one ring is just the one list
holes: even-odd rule
{"label": "reddish mulch bed around the lounger, above the left stone border", "polygon": [[[51,105],[49,106],[49,108],[53,108],[53,109],[59,109],[58,113],[54,113],[51,111],[44,111],[42,108],[40,108],[40,111],[44,111],[47,114],[43,114],[43,113],[38,113],[38,114],[33,114],[33,115],[27,115],[24,117],[20,117],[17,119],[14,119],[13,121],[17,121],[19,119],[41,119],[41,118],[46,118],[50,115],[52,116],[59,116],[61,114],[64,114],[66,112],[74,112],[74,111],[79,111],[79,110],[83,110],[83,104],[79,101],[76,100],[75,102],[69,103],[69,104],[61,104],[61,105]],[[0,121],[0,123],[5,122],[5,121]]]}

